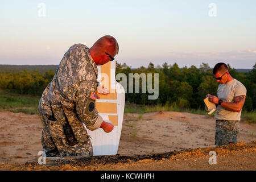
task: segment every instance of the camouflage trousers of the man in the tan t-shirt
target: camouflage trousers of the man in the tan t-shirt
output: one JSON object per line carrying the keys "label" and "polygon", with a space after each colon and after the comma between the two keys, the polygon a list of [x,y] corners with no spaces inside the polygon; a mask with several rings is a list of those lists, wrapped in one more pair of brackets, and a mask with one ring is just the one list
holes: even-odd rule
{"label": "camouflage trousers of the man in the tan t-shirt", "polygon": [[230,142],[237,143],[238,131],[238,121],[216,120],[216,146],[222,146]]}

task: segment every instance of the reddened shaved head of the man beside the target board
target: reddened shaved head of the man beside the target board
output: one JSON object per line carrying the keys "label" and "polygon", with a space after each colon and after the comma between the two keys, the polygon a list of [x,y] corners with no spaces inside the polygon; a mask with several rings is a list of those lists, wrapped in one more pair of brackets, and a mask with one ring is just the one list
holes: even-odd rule
{"label": "reddened shaved head of the man beside the target board", "polygon": [[114,57],[119,52],[117,40],[113,36],[105,35],[98,39],[90,48],[90,55],[97,65],[102,65],[110,61],[106,52]]}

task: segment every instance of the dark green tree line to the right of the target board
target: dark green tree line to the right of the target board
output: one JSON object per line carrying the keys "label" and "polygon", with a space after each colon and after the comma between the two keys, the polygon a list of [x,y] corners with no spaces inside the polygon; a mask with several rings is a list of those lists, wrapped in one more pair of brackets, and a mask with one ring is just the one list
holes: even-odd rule
{"label": "dark green tree line to the right of the target board", "polygon": [[[254,110],[256,106],[256,63],[250,72],[241,73],[230,67],[229,73],[233,78],[242,82],[247,89],[247,97],[243,109]],[[148,100],[148,93],[126,93],[126,101],[139,105],[168,105],[188,109],[204,109],[203,99],[210,93],[217,96],[218,82],[212,74],[212,69],[207,63],[202,63],[200,68],[192,65],[190,68],[179,68],[177,63],[169,65],[164,63],[162,66],[154,66],[150,63],[147,68],[140,67],[131,69],[124,64],[118,64],[116,74],[125,73],[159,73],[159,98]],[[146,74],[147,75],[147,74]],[[154,80],[154,79],[152,79]],[[141,86],[141,85],[140,85]]]}

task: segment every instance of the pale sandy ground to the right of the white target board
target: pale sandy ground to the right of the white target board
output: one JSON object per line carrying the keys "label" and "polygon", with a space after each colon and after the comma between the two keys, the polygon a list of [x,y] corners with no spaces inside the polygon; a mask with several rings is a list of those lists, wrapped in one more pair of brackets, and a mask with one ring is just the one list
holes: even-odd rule
{"label": "pale sandy ground to the right of the white target board", "polygon": [[[207,115],[173,111],[146,113],[142,117],[125,114],[118,153],[149,154],[214,147],[214,135],[214,117]],[[256,125],[240,123],[237,141],[247,143],[255,139]]]}

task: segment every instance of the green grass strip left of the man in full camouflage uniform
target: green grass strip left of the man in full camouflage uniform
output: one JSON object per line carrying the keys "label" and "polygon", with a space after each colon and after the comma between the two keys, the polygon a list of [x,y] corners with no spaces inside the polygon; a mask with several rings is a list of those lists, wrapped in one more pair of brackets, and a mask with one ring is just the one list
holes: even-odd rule
{"label": "green grass strip left of the man in full camouflage uniform", "polygon": [[40,97],[0,90],[0,109],[14,113],[37,114]]}

